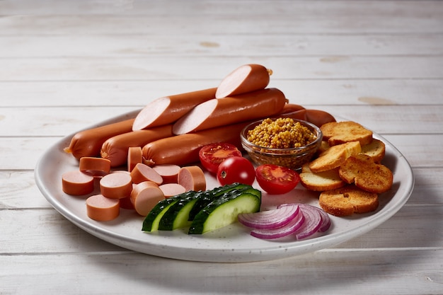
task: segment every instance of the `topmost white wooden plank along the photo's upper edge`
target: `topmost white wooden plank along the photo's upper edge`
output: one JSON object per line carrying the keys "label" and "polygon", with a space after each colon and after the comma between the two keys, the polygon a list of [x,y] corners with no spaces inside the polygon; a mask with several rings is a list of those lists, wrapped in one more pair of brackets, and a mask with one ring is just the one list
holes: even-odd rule
{"label": "topmost white wooden plank along the photo's upper edge", "polygon": [[62,11],[54,9],[53,3],[9,8],[8,15],[0,18],[3,34],[442,33],[443,28],[439,18],[443,8],[433,1],[390,1],[383,5],[378,1],[263,1],[255,5],[251,1],[192,5],[139,1],[128,2],[128,6],[96,2],[92,6],[74,5],[74,10],[69,5]]}

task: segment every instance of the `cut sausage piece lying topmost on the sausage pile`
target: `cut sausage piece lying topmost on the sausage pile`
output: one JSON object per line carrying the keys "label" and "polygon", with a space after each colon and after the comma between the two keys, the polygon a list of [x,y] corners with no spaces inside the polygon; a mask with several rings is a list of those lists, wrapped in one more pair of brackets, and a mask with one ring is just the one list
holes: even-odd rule
{"label": "cut sausage piece lying topmost on the sausage pile", "polygon": [[217,87],[215,98],[237,96],[266,88],[272,75],[272,70],[261,64],[245,64],[226,76]]}

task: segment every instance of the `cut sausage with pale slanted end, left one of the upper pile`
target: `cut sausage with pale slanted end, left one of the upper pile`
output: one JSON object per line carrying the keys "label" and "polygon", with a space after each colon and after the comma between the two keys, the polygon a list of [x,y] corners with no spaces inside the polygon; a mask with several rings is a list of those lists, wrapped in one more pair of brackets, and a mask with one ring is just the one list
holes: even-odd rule
{"label": "cut sausage with pale slanted end, left one of the upper pile", "polygon": [[192,110],[196,105],[215,98],[217,88],[177,94],[157,98],[144,107],[135,117],[132,130],[142,130],[147,127],[168,125]]}

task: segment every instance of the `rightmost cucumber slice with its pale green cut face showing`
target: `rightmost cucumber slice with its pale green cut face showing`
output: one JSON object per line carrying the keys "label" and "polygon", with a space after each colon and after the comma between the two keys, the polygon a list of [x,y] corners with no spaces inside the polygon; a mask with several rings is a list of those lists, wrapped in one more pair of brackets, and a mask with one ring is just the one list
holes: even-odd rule
{"label": "rightmost cucumber slice with its pale green cut face showing", "polygon": [[227,192],[195,216],[188,233],[202,234],[220,229],[237,221],[238,214],[259,212],[260,204],[261,192],[253,188]]}

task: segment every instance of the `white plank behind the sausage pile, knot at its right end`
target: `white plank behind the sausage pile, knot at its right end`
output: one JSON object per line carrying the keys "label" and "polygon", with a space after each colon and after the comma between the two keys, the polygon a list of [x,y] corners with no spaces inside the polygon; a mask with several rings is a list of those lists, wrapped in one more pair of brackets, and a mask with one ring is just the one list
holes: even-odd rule
{"label": "white plank behind the sausage pile, knot at its right end", "polygon": [[[141,108],[161,96],[217,87],[222,75],[212,80],[4,81],[0,83],[1,106],[84,107],[93,101],[93,105]],[[271,76],[270,87],[279,88],[292,103],[309,108],[318,108],[318,105],[437,105],[443,101],[441,79],[286,80]],[[334,112],[340,115],[341,110]]]}

